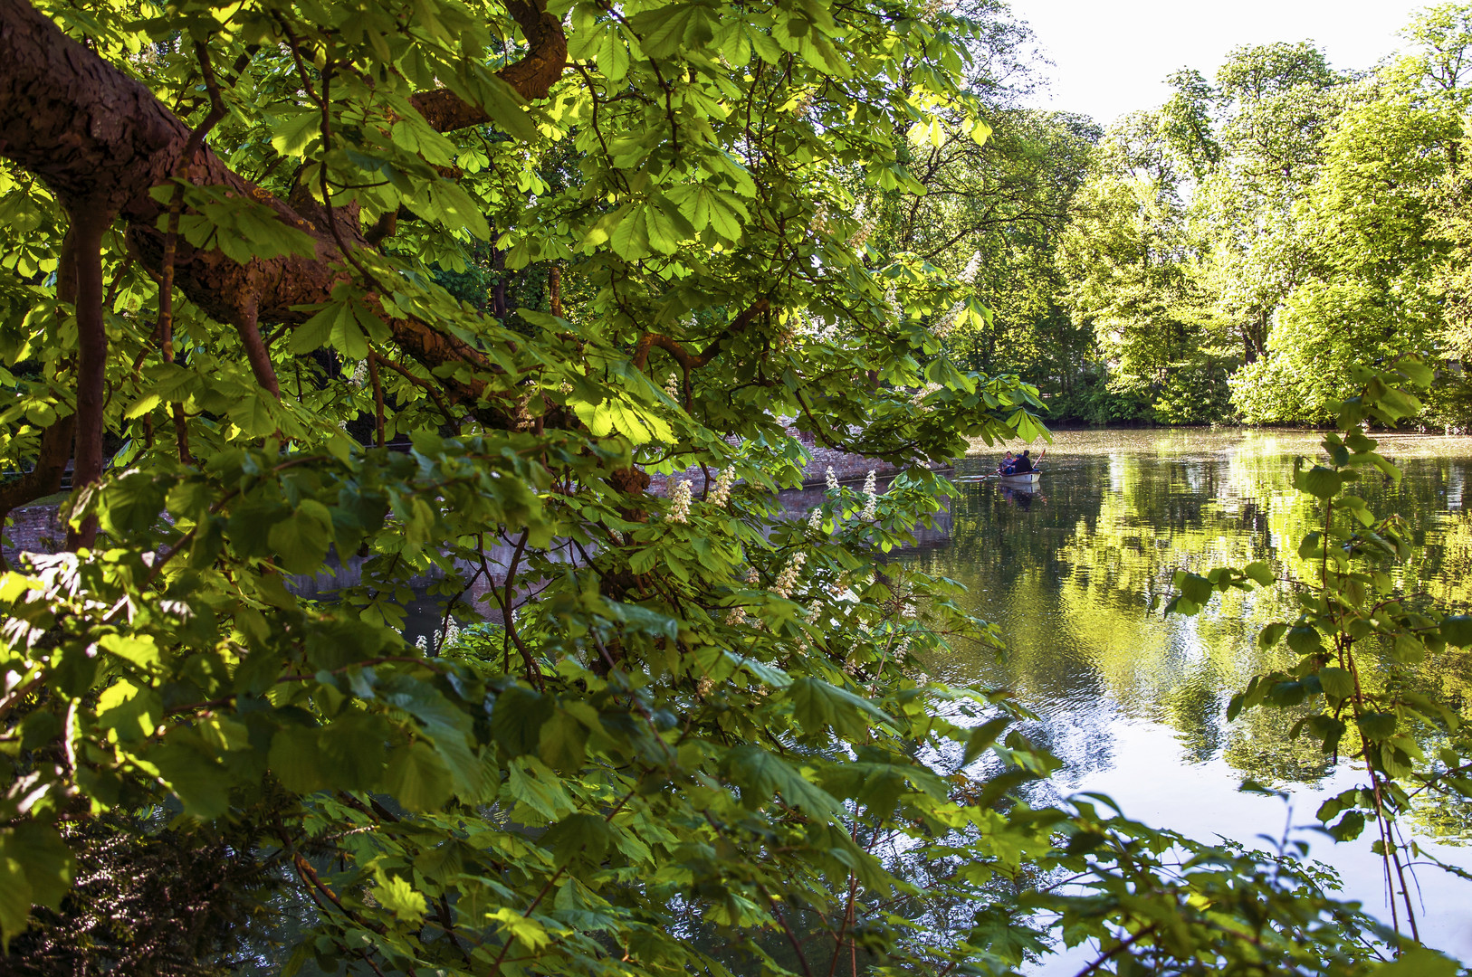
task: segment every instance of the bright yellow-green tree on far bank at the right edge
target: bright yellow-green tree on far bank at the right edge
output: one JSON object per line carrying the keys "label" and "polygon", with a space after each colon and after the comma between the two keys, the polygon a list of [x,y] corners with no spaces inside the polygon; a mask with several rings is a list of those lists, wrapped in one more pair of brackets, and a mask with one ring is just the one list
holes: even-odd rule
{"label": "bright yellow-green tree on far bank at the right edge", "polygon": [[[1437,285],[1441,269],[1456,274],[1456,262],[1447,260],[1437,213],[1450,210],[1446,188],[1460,180],[1466,94],[1450,66],[1451,38],[1431,26],[1446,26],[1453,13],[1428,18],[1410,31],[1422,38],[1422,51],[1348,90],[1322,138],[1317,180],[1291,216],[1303,257],[1279,306],[1269,356],[1234,381],[1236,402],[1254,422],[1328,419],[1329,405],[1354,387],[1356,363],[1407,353],[1457,356],[1447,341],[1446,285]],[[1463,384],[1448,372],[1426,419],[1463,422],[1459,402]]]}

